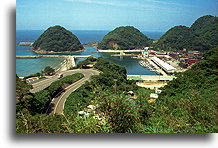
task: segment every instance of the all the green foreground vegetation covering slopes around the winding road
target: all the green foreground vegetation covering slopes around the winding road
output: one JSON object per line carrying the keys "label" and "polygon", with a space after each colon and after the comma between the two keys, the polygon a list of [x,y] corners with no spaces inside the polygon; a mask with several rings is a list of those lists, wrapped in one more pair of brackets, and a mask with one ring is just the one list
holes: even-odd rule
{"label": "all the green foreground vegetation covering slopes around the winding road", "polygon": [[[67,98],[63,115],[44,115],[41,111],[65,82],[54,82],[47,90],[32,95],[31,86],[17,78],[16,130],[21,133],[217,133],[217,57],[218,48],[206,52],[204,60],[178,73],[176,79],[162,88],[154,102],[150,101],[153,91],[127,80],[124,67],[98,58],[94,67],[102,73]],[[130,90],[135,94],[132,99],[127,94]],[[100,120],[93,118],[94,115],[86,119],[78,116],[78,111],[86,111],[87,105],[96,106]]]}

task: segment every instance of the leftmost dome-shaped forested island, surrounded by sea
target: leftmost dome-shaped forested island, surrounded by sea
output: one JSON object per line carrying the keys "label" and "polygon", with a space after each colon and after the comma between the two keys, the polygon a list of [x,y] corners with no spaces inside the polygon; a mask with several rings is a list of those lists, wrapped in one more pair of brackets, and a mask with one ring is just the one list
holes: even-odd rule
{"label": "leftmost dome-shaped forested island, surrounded by sea", "polygon": [[78,38],[61,26],[48,28],[34,43],[34,50],[44,51],[78,51],[83,49]]}

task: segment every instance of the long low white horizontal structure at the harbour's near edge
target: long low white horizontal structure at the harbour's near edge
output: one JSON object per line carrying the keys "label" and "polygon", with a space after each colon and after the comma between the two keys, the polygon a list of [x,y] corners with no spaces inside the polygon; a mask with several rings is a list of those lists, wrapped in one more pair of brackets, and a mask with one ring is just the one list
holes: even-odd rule
{"label": "long low white horizontal structure at the harbour's near edge", "polygon": [[175,76],[161,76],[161,75],[127,75],[129,80],[138,81],[171,81]]}

